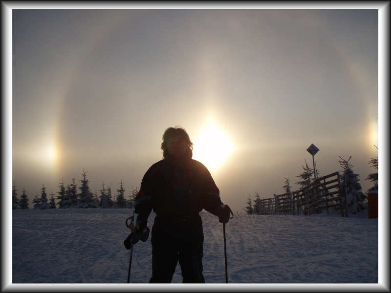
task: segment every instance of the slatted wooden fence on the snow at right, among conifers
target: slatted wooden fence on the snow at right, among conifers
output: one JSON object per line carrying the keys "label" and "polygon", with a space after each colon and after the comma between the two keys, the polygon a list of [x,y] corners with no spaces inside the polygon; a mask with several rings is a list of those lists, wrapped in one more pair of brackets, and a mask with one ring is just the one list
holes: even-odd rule
{"label": "slatted wooden fence on the snow at right, among conifers", "polygon": [[[319,177],[304,189],[261,199],[261,214],[305,214],[320,213],[329,209],[340,210],[347,216],[345,186],[339,172]],[[344,215],[345,210],[345,215]]]}

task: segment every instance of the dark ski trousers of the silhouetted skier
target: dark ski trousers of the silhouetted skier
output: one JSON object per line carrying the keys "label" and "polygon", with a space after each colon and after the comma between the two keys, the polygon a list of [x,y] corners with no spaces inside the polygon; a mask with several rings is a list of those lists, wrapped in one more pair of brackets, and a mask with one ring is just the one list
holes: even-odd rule
{"label": "dark ski trousers of the silhouetted skier", "polygon": [[156,216],[151,242],[150,283],[171,283],[178,260],[183,283],[205,283],[202,274],[204,234],[199,215],[188,219]]}

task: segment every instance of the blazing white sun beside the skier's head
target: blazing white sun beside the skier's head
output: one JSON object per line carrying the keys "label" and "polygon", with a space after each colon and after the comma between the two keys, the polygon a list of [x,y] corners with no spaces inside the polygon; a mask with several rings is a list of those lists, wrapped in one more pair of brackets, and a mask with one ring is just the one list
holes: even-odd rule
{"label": "blazing white sun beside the skier's head", "polygon": [[208,169],[215,170],[225,162],[233,149],[229,138],[210,122],[195,139],[193,158]]}

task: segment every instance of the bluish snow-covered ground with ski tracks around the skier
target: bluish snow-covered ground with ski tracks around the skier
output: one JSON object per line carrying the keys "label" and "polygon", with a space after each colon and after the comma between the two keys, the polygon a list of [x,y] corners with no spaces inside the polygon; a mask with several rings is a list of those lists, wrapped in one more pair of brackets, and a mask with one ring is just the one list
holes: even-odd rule
{"label": "bluish snow-covered ground with ski tracks around the skier", "polygon": [[[126,283],[132,209],[13,210],[13,283]],[[200,213],[203,273],[225,283],[222,224]],[[152,212],[148,226],[152,228]],[[134,246],[131,283],[148,283],[151,235]],[[377,283],[378,220],[236,214],[226,224],[230,283]],[[181,283],[179,264],[173,283]]]}

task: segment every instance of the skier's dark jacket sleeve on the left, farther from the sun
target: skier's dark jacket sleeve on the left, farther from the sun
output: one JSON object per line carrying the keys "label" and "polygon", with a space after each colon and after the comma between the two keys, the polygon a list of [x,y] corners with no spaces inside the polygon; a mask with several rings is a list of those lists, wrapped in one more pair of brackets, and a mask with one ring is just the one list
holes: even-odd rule
{"label": "skier's dark jacket sleeve on the left, farther from the sun", "polygon": [[138,214],[137,221],[147,222],[152,211],[152,167],[145,173],[141,187],[135,198],[134,213]]}

